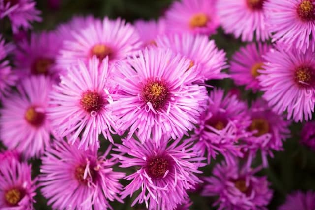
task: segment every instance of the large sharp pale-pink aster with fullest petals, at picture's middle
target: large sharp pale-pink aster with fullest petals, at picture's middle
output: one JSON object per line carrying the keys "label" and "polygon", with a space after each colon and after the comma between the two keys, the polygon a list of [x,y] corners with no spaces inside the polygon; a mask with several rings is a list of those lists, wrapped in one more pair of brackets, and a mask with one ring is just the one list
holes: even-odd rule
{"label": "large sharp pale-pink aster with fullest petals, at picture's middle", "polygon": [[159,144],[163,134],[173,139],[188,134],[207,100],[207,90],[192,83],[200,79],[189,60],[170,50],[146,48],[139,56],[115,67],[119,91],[113,112],[120,130],[136,133],[143,143],[152,135]]}

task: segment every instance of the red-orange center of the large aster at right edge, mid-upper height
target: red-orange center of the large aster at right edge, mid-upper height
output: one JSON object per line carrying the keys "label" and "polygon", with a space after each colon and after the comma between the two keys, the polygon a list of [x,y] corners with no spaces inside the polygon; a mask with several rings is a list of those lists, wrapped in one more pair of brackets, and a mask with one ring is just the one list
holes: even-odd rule
{"label": "red-orange center of the large aster at right edge, mid-upper height", "polygon": [[300,66],[295,71],[295,82],[300,86],[312,85],[315,82],[315,71],[309,66]]}

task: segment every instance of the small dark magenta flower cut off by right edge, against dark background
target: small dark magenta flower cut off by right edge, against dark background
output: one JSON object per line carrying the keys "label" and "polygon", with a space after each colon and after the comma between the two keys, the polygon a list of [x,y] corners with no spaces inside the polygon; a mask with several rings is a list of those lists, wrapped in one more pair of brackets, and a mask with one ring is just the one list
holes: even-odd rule
{"label": "small dark magenta flower cut off by right edge, against dark background", "polygon": [[301,131],[301,143],[315,150],[315,121],[306,122]]}

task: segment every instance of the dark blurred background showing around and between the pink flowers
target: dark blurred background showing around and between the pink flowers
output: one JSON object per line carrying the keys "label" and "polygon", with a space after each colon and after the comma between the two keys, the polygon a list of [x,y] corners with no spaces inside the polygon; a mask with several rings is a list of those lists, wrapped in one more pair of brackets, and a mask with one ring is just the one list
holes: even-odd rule
{"label": "dark blurred background showing around and between the pink flowers", "polygon": [[[69,20],[73,15],[89,15],[93,14],[95,17],[109,16],[111,18],[122,17],[128,22],[136,19],[157,19],[163,15],[165,10],[171,4],[172,0],[60,0],[59,6],[52,6],[49,0],[37,0],[37,8],[42,11],[43,22],[34,23],[34,30],[53,30],[59,23]],[[6,27],[9,29],[9,27]],[[3,29],[3,28],[2,28]],[[10,30],[4,32],[5,37],[11,40]],[[227,52],[228,58],[239,49],[242,43],[236,40],[231,35],[225,35],[221,29],[218,30],[216,35],[210,37],[215,39],[218,47]],[[225,90],[233,87],[233,82],[229,79],[221,81],[210,81],[212,85],[221,86]],[[250,91],[242,92],[244,100],[251,101],[259,94],[253,94]],[[271,182],[271,188],[274,190],[273,199],[268,207],[270,210],[276,210],[279,204],[284,202],[285,196],[294,191],[301,189],[307,191],[315,189],[315,153],[308,148],[300,145],[299,135],[302,125],[293,123],[291,125],[292,138],[287,139],[284,143],[284,151],[275,152],[274,158],[269,158],[270,167],[258,173],[258,175],[267,175],[268,180]],[[117,139],[118,140],[118,139]],[[119,141],[119,140],[118,140]],[[102,140],[101,150],[105,150],[108,141]],[[204,167],[204,175],[211,175],[212,167],[217,161],[212,161],[210,166]],[[34,160],[33,163],[33,176],[39,174],[40,161]],[[261,161],[257,158],[254,165],[260,164]],[[121,170],[116,168],[115,170]],[[128,169],[131,173],[134,169]],[[122,181],[124,185],[127,182]],[[133,196],[135,197],[135,196]],[[199,196],[199,193],[191,193],[190,198],[193,201],[191,210],[212,210],[212,203],[215,198],[207,198]],[[41,196],[39,190],[36,196],[37,203],[35,204],[36,210],[49,210],[46,200]],[[112,202],[114,210],[140,210],[143,206],[135,206],[131,208],[131,199],[126,198],[125,204]]]}

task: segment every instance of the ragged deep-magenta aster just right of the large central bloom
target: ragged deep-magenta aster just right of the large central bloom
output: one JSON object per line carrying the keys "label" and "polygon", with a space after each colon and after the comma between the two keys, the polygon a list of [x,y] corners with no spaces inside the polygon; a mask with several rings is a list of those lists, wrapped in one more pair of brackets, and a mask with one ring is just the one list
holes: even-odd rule
{"label": "ragged deep-magenta aster just right of the large central bloom", "polygon": [[237,145],[238,139],[246,134],[250,124],[247,106],[239,101],[236,95],[227,94],[224,90],[210,92],[208,109],[199,118],[199,127],[189,140],[195,140],[194,150],[200,156],[207,154],[208,163],[221,153],[228,163],[233,156],[241,156]]}

